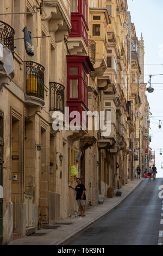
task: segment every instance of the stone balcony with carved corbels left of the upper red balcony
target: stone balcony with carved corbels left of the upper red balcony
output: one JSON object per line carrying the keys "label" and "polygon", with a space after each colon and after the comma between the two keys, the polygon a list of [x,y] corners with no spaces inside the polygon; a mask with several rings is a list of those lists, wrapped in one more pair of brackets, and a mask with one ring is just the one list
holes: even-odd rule
{"label": "stone balcony with carved corbels left of the upper red balcony", "polygon": [[63,41],[71,29],[70,4],[68,1],[66,2],[67,7],[60,0],[44,1],[43,9],[46,17],[43,17],[42,20],[48,21],[49,32],[55,34],[55,42]]}

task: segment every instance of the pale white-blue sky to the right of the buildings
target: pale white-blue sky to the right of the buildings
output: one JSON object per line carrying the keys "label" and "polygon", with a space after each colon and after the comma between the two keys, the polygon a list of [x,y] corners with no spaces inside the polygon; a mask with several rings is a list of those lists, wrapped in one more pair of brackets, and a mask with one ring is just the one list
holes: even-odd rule
{"label": "pale white-blue sky to the right of the buildings", "polygon": [[[136,34],[140,40],[141,32],[145,40],[145,83],[149,74],[163,74],[163,1],[162,0],[128,0],[128,11],[132,22],[135,23]],[[162,65],[161,65],[162,64]],[[152,86],[154,93],[147,93],[153,118],[151,118],[152,143],[150,147],[155,150],[158,178],[163,178],[163,76],[153,76]],[[162,83],[162,84],[160,84]],[[162,127],[159,129],[159,120]],[[162,156],[160,155],[162,149]]]}

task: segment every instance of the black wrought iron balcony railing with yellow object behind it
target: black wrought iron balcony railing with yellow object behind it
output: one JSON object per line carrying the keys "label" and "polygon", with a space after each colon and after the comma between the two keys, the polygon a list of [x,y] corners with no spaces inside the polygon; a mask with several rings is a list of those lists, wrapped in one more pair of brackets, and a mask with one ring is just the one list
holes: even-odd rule
{"label": "black wrought iron balcony railing with yellow object behind it", "polygon": [[45,68],[36,62],[26,63],[26,94],[44,100],[44,71]]}

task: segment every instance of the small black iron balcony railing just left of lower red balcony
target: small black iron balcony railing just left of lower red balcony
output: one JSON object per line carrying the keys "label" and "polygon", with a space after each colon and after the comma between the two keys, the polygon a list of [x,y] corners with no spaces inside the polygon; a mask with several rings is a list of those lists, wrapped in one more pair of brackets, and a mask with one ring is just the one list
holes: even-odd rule
{"label": "small black iron balcony railing just left of lower red balcony", "polygon": [[60,83],[49,82],[51,88],[50,111],[64,113],[65,108],[65,87]]}

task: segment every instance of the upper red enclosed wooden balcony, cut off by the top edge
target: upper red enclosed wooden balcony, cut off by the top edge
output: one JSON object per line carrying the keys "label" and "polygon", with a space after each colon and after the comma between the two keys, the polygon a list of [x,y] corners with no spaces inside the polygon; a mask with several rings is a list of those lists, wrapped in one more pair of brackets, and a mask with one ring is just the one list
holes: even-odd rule
{"label": "upper red enclosed wooden balcony, cut off by the top edge", "polygon": [[73,0],[71,5],[71,31],[69,38],[83,38],[88,44],[88,4],[87,0]]}

